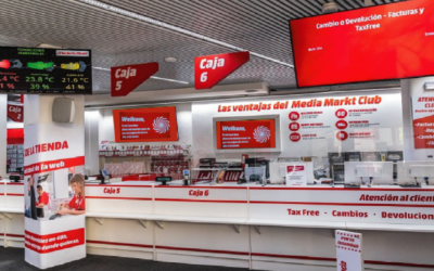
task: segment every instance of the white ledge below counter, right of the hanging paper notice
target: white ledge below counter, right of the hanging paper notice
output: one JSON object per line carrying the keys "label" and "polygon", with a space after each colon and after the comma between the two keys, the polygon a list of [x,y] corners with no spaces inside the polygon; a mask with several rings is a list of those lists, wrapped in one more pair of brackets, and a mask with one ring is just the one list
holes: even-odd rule
{"label": "white ledge below counter, right of the hanging paper notice", "polygon": [[434,232],[434,225],[346,223],[347,230],[394,231],[394,232]]}

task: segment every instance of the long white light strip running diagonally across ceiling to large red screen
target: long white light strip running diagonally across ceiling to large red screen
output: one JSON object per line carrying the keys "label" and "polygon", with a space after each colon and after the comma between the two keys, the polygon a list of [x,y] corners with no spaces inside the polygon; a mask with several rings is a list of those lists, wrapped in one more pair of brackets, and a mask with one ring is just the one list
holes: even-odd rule
{"label": "long white light strip running diagonally across ceiling to large red screen", "polygon": [[[184,34],[184,35],[190,36],[190,37],[194,37],[194,38],[197,38],[197,39],[206,40],[206,41],[208,41],[210,43],[214,43],[214,44],[218,44],[218,46],[226,47],[226,48],[229,48],[229,49],[233,49],[233,50],[237,50],[237,51],[248,51],[246,49],[243,49],[243,48],[240,48],[240,47],[235,47],[235,46],[229,44],[227,42],[224,42],[224,41],[220,41],[220,40],[217,40],[217,39],[213,39],[213,38],[209,38],[209,37],[206,37],[206,36],[203,36],[203,35],[200,35],[200,34],[196,34],[196,33],[193,33],[193,31],[190,31],[190,30],[177,27],[177,26],[173,26],[173,25],[169,25],[169,24],[166,24],[166,23],[163,23],[163,22],[146,17],[146,16],[143,16],[143,15],[133,13],[133,12],[129,12],[129,11],[126,11],[126,10],[123,10],[123,9],[119,9],[119,8],[110,5],[110,4],[105,4],[105,3],[102,3],[102,2],[99,2],[99,1],[94,1],[94,0],[77,0],[77,1],[85,2],[87,4],[90,4],[90,5],[93,5],[93,7],[97,7],[97,8],[101,8],[101,9],[111,11],[111,12],[115,12],[115,13],[122,14],[124,16],[128,16],[128,17],[131,17],[131,18],[137,18],[139,21],[142,21],[142,22],[155,25],[155,26],[159,26],[159,27],[163,27],[163,28],[166,28],[166,29],[170,29],[170,30],[179,33],[179,34]],[[252,52],[252,51],[250,51],[250,53],[252,55],[254,55],[256,57],[259,57],[259,59],[263,59],[263,60],[275,62],[275,63],[278,63],[280,65],[284,65],[284,66],[292,67],[292,68],[294,67],[294,65],[292,65],[290,63],[276,60],[276,59],[269,57],[269,56],[264,55],[264,54],[255,53],[255,52]]]}

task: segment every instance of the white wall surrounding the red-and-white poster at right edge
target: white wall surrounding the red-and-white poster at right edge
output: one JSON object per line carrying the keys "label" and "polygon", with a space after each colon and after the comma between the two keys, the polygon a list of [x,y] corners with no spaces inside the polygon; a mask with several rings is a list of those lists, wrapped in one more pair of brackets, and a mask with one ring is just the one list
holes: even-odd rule
{"label": "white wall surrounding the red-and-white poster at right edge", "polygon": [[425,91],[423,85],[434,81],[434,77],[422,77],[401,80],[403,88],[403,122],[404,122],[404,147],[406,160],[433,160],[429,155],[434,155],[434,149],[416,150],[412,126],[412,96],[434,96],[434,91]]}

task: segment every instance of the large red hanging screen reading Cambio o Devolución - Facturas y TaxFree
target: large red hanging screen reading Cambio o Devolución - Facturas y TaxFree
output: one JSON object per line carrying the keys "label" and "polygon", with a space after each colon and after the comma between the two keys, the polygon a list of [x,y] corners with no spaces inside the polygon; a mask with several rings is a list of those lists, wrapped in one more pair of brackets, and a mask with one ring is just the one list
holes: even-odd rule
{"label": "large red hanging screen reading Cambio o Devoluci\u00f3n - Facturas y TaxFree", "polygon": [[434,1],[292,20],[298,87],[434,75]]}

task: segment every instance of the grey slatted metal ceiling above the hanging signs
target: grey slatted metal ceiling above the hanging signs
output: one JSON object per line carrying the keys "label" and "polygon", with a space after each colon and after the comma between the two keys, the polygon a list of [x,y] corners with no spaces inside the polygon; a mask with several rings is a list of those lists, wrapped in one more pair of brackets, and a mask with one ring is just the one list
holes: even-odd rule
{"label": "grey slatted metal ceiling above the hanging signs", "polygon": [[[374,5],[399,1],[403,0],[372,0]],[[294,68],[289,66],[293,64],[289,20],[322,14],[321,8],[326,2],[0,0],[0,46],[37,47],[49,43],[62,48],[91,49],[95,67],[94,94],[110,92],[110,67],[146,62],[159,63],[159,70],[155,76],[179,82],[150,79],[136,91],[191,88],[194,86],[195,56],[237,51],[233,48],[251,51],[260,57],[251,56],[247,64],[220,85],[265,82],[271,90],[296,90]],[[344,11],[362,8],[365,0],[335,2]],[[146,23],[140,15],[178,29]],[[187,34],[180,34],[179,28],[187,30]],[[190,35],[191,33],[196,36]],[[210,42],[210,39],[225,42],[229,47]],[[178,61],[165,62],[167,56]],[[336,88],[397,85],[398,80],[388,80]]]}

